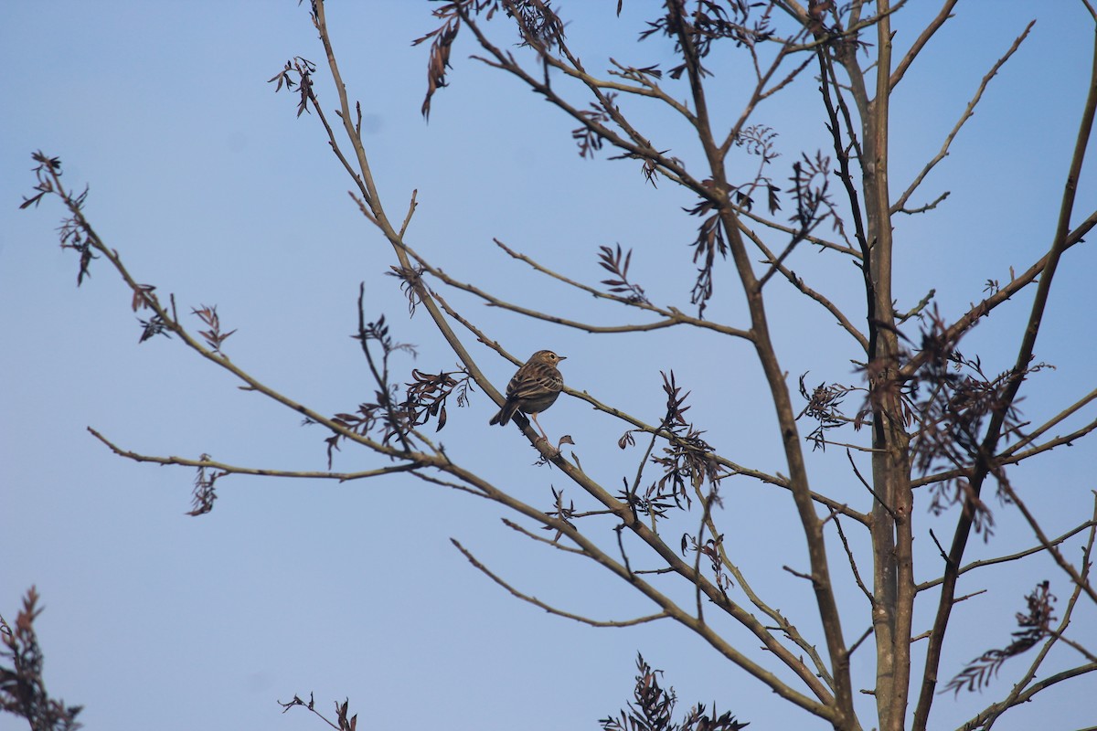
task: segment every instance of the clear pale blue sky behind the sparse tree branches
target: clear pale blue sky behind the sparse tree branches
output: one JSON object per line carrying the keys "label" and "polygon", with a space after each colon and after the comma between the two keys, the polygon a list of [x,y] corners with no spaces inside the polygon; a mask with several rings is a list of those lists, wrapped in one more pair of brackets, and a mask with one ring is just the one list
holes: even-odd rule
{"label": "clear pale blue sky behind the sparse tree branches", "polygon": [[[307,3],[306,3],[307,4]],[[567,3],[568,37],[591,69],[608,57],[634,66],[665,62],[669,45],[637,45],[651,2]],[[896,47],[916,37],[931,3],[895,19]],[[669,182],[645,185],[637,165],[576,155],[573,122],[459,44],[451,87],[436,96],[429,124],[425,46],[433,5],[332,3],[332,42],[352,99],[360,100],[365,144],[381,197],[402,219],[411,192],[419,208],[410,245],[453,276],[485,284],[502,299],[602,324],[634,312],[554,285],[499,251],[493,239],[530,253],[575,279],[597,285],[601,245],[635,250],[630,274],[653,301],[689,310],[693,266],[688,242],[692,198]],[[920,197],[943,191],[938,210],[896,224],[896,307],[934,288],[953,318],[983,297],[988,279],[1008,281],[1045,250],[1077,130],[1090,62],[1093,23],[1081,3],[1000,0],[961,3],[893,100],[892,189],[904,190],[963,112],[980,79],[1036,18],[1030,37],[991,83],[950,155]],[[36,585],[46,607],[36,624],[50,693],[81,704],[89,729],[309,729],[299,709],[276,700],[315,694],[318,708],[350,698],[364,728],[597,728],[630,699],[637,651],[666,672],[680,710],[695,701],[731,709],[754,728],[824,728],[723,662],[686,629],[655,623],[627,629],[579,625],[514,599],[457,552],[459,539],[521,591],[599,619],[649,614],[652,606],[604,572],[532,544],[500,523],[489,502],[408,477],[338,483],[234,476],[218,483],[208,515],[190,517],[193,472],[112,455],[94,427],[138,453],[216,459],[252,467],[321,470],[324,433],[186,351],[176,340],[138,344],[131,295],[106,262],[76,286],[77,261],[57,245],[59,206],[19,210],[34,178],[31,153],[63,160],[73,189],[90,187],[86,213],[134,276],[173,294],[181,312],[217,306],[234,363],[323,413],[353,410],[373,396],[355,341],[357,298],[369,317],[385,315],[394,338],[417,346],[394,369],[453,369],[455,359],[425,312],[409,318],[393,277],[392,250],[359,214],[351,183],[330,155],[315,115],[295,116],[295,99],[268,79],[286,59],[323,60],[296,2],[39,2],[0,5],[0,614],[13,619]],[[717,115],[731,117],[749,82],[734,55],[713,58]],[[336,96],[321,71],[321,103]],[[781,185],[800,152],[825,149],[811,83],[761,105],[756,119],[778,134]],[[583,101],[586,104],[586,101]],[[655,140],[682,159],[697,149],[680,124],[637,110]],[[1094,150],[1090,149],[1090,153]],[[1090,156],[1092,158],[1092,156]],[[1097,201],[1087,172],[1082,216]],[[1088,207],[1087,207],[1088,206]],[[1082,216],[1077,218],[1081,219]],[[856,273],[834,256],[798,250],[798,273],[856,309]],[[1032,423],[1093,389],[1095,305],[1092,245],[1076,247],[1056,274],[1037,358],[1055,366],[1033,377],[1022,403]],[[706,316],[744,325],[730,265],[717,269]],[[443,290],[444,292],[444,290]],[[551,347],[566,355],[568,385],[657,421],[660,372],[674,370],[693,396],[690,418],[722,454],[782,471],[760,369],[745,343],[716,335],[656,331],[595,336],[483,307],[446,293],[490,336],[520,357]],[[856,384],[856,349],[834,322],[788,288],[773,286],[770,312],[782,365],[794,380]],[[997,373],[1015,356],[1031,294],[996,311],[964,341]],[[197,322],[191,318],[191,324]],[[462,333],[502,388],[513,366]],[[965,350],[965,352],[968,352]],[[586,504],[513,430],[488,429],[494,406],[479,391],[451,408],[438,438],[452,455],[544,510],[551,489]],[[1094,418],[1093,407],[1067,424]],[[567,433],[574,453],[603,484],[635,472],[640,452],[617,447],[623,426],[561,399],[541,419]],[[1064,426],[1066,429],[1066,426]],[[805,430],[806,431],[806,430]],[[849,438],[863,435],[849,434]],[[1013,472],[1050,535],[1093,510],[1093,446],[1054,452]],[[824,491],[868,510],[868,495],[837,449],[810,456]],[[349,447],[343,471],[377,467]],[[792,506],[745,479],[725,482],[722,525],[733,552],[806,632],[810,593],[783,564],[804,567]],[[924,503],[923,503],[924,504]],[[1033,544],[1015,510],[995,504],[997,530],[969,557],[1005,555]],[[918,575],[939,571],[929,530],[948,535],[948,516],[919,511]],[[600,540],[613,539],[603,524]],[[1078,542],[1067,555],[1077,557]],[[1004,647],[1014,613],[1037,581],[1068,594],[1049,561],[986,571],[964,593],[986,589],[958,609],[963,627],[942,675],[992,647]],[[861,597],[842,580],[842,607],[860,632]],[[926,625],[929,609],[916,624]],[[860,614],[858,614],[860,613]],[[1078,615],[1078,639],[1093,648],[1094,607]],[[753,641],[734,627],[728,637]],[[816,637],[818,635],[816,633]],[[1076,664],[1060,650],[1049,662]],[[853,671],[869,665],[855,656]],[[1060,666],[1060,665],[1056,665]],[[935,728],[954,728],[1006,693],[1027,667],[1007,663],[983,695],[940,696]],[[1006,716],[996,729],[1077,729],[1092,724],[1084,704],[1097,677]],[[859,699],[868,708],[868,697]],[[870,716],[866,713],[866,718]],[[23,728],[0,717],[0,730]]]}

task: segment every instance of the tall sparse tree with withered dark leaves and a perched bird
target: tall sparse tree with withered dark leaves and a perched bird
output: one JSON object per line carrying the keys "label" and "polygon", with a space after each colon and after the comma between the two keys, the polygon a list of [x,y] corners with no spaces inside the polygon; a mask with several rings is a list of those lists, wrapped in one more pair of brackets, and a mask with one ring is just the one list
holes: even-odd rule
{"label": "tall sparse tree with withered dark leaves and a perched bird", "polygon": [[[1045,409],[1026,404],[1022,414],[1019,408],[1030,384],[1054,377],[1042,373],[1052,364],[1038,347],[1052,285],[1060,262],[1067,261],[1097,222],[1097,212],[1078,213],[1075,205],[1097,104],[1097,76],[1090,76],[1088,89],[1077,91],[1085,98],[1079,133],[1059,182],[1060,213],[1047,232],[1048,243],[1016,271],[1010,269],[1008,279],[994,273],[1005,264],[983,251],[985,271],[969,282],[965,293],[975,297],[971,287],[984,287],[984,279],[985,287],[969,307],[942,306],[932,282],[916,297],[901,296],[896,262],[917,254],[904,249],[900,232],[911,227],[908,218],[932,216],[949,205],[948,193],[925,192],[927,181],[1031,28],[1004,49],[979,83],[940,151],[896,185],[891,180],[892,102],[924,53],[930,53],[954,4],[945,2],[916,35],[893,47],[893,33],[908,12],[903,2],[817,2],[806,8],[791,2],[668,2],[647,20],[641,39],[665,44],[669,59],[654,65],[611,59],[601,73],[583,62],[588,54],[570,45],[570,26],[543,2],[465,0],[438,5],[437,27],[417,42],[428,56],[425,115],[452,80],[454,44],[474,44],[483,64],[517,79],[572,118],[580,156],[631,165],[641,181],[682,205],[693,229],[681,242],[598,244],[590,253],[609,274],[597,284],[589,274],[572,274],[574,267],[557,261],[552,250],[527,255],[511,242],[497,240],[502,253],[557,285],[555,301],[540,308],[523,301],[521,292],[513,297],[497,294],[519,275],[499,273],[494,264],[477,266],[478,251],[456,247],[457,255],[442,267],[436,263],[446,258],[442,242],[432,247],[409,240],[423,213],[417,210],[415,195],[394,208],[384,181],[375,176],[371,160],[376,152],[363,135],[363,106],[353,102],[353,84],[341,76],[326,8],[314,3],[326,60],[294,57],[272,82],[296,95],[298,116],[320,123],[352,181],[354,205],[389,244],[391,260],[384,267],[394,292],[397,286],[403,292],[416,321],[433,325],[433,336],[444,341],[456,365],[436,358],[430,365],[407,366],[411,347],[403,342],[405,325],[394,324],[391,313],[369,311],[372,293],[363,286],[354,336],[375,382],[371,399],[325,411],[281,392],[234,359],[229,338],[237,322],[223,325],[213,306],[177,307],[173,297],[159,295],[131,273],[86,216],[84,194],[66,187],[59,161],[37,153],[36,192],[24,205],[47,196],[65,203],[69,217],[61,228],[61,245],[79,255],[78,283],[97,271],[97,258],[105,260],[132,292],[143,341],[160,335],[181,341],[242,381],[242,388],[303,415],[313,426],[306,434],[323,430],[328,469],[250,468],[205,455],[138,454],[109,434],[92,433],[129,459],[195,469],[194,515],[213,509],[226,478],[247,473],[339,481],[397,473],[484,498],[508,511],[506,525],[514,532],[589,559],[653,603],[655,610],[600,620],[553,606],[520,585],[535,582],[535,576],[522,575],[520,582],[504,576],[491,569],[490,560],[454,540],[473,566],[514,596],[593,625],[674,620],[743,671],[745,676],[736,676],[743,683],[768,689],[835,729],[937,728],[934,715],[941,713],[945,703],[939,692],[979,690],[991,685],[1004,665],[1027,663],[1016,671],[1011,689],[985,701],[965,723],[960,721],[964,728],[988,728],[1014,706],[1039,700],[1045,689],[1097,669],[1093,650],[1078,641],[1085,631],[1076,626],[1081,617],[1092,621],[1097,603],[1088,574],[1097,525],[1092,499],[1083,490],[1071,490],[1064,500],[1081,495],[1085,501],[1074,503],[1078,519],[1050,532],[1040,518],[1039,496],[1026,494],[1017,478],[1029,464],[1049,459],[1052,450],[1060,454],[1056,447],[1081,443],[1097,425],[1084,415],[1097,395],[1086,393],[1088,382],[1079,387],[1072,381],[1073,396]],[[1088,20],[1097,22],[1088,5],[1083,4],[1078,15],[1086,18],[1085,10],[1090,11]],[[516,39],[518,48],[510,47]],[[332,103],[318,92],[328,82]],[[766,118],[765,110],[771,98],[781,95],[794,98],[803,115],[828,133],[817,147],[790,152],[779,142],[781,123]],[[651,278],[637,274],[645,256],[671,245],[679,252],[679,272],[685,267],[690,274],[685,287],[669,270],[648,269]],[[685,258],[688,261],[681,261]],[[909,286],[904,284],[905,289]],[[688,305],[682,301],[687,292]],[[588,317],[591,298],[617,307],[608,310],[612,324]],[[667,300],[675,305],[659,304]],[[475,301],[506,317],[473,315],[468,304]],[[782,353],[782,342],[789,339],[782,336],[780,323],[792,318],[776,315],[783,308],[795,318],[822,315],[822,321],[837,327],[813,334],[810,356],[790,358]],[[997,317],[1006,311],[1013,319]],[[987,321],[992,315],[995,319]],[[540,471],[527,478],[540,483],[536,491],[528,489],[529,482],[508,487],[494,476],[484,453],[500,448],[498,441],[505,437],[496,430],[485,430],[464,450],[449,443],[443,447],[441,441],[459,418],[461,430],[474,427],[459,407],[484,396],[501,403],[499,381],[484,370],[489,354],[513,366],[527,355],[507,347],[508,320],[510,327],[552,323],[607,342],[636,335],[630,342],[655,343],[603,361],[603,378],[629,382],[629,391],[617,400],[601,397],[593,380],[580,378],[580,386],[567,390],[568,397],[599,412],[591,416],[599,420],[593,433],[553,444],[539,439],[524,419],[517,419],[538,453]],[[999,347],[1008,341],[1009,355],[997,349],[984,355],[982,347],[974,355],[968,343],[982,334],[973,333],[975,327],[995,328],[1000,320],[1006,320],[1005,327],[995,330],[993,339]],[[595,349],[589,353],[597,354]],[[709,353],[749,355],[755,365],[747,374],[736,369],[711,391],[691,390],[676,365]],[[579,359],[572,357],[573,363]],[[659,407],[651,396],[630,392],[642,387],[631,373],[621,373],[636,367],[641,357],[668,362],[659,367],[660,380],[643,387],[660,393]],[[807,367],[792,370],[790,359],[806,362]],[[836,373],[836,362],[852,362],[853,372]],[[570,381],[568,365],[563,370]],[[836,375],[815,385],[818,377],[806,373],[808,368]],[[737,414],[737,396],[749,389],[768,396],[767,415]],[[778,445],[779,466],[750,458],[754,448],[748,445],[716,446],[726,426],[712,422],[712,411],[708,420],[697,418],[699,403],[715,404],[716,415],[728,423],[757,420],[757,437]],[[1033,418],[1033,411],[1045,415]],[[554,413],[545,419],[550,431]],[[612,438],[608,424],[617,430]],[[559,436],[558,431],[552,433]],[[572,442],[577,442],[574,448]],[[352,446],[374,455],[367,469],[337,469]],[[506,448],[514,448],[512,439]],[[593,460],[588,449],[597,455]],[[615,458],[607,456],[618,449]],[[835,459],[845,462],[840,473]],[[596,468],[587,469],[584,462]],[[759,503],[766,510],[759,510]],[[920,527],[927,510],[934,517]],[[996,525],[1003,513],[1014,512],[1027,524],[1018,534],[1025,536],[1022,544],[998,549]],[[772,540],[758,547],[735,540],[737,516],[744,513],[772,519]],[[795,536],[791,545],[785,540],[790,535]],[[973,560],[972,545],[980,541],[992,552]],[[758,556],[750,555],[755,552]],[[942,665],[946,642],[962,631],[955,627],[958,606],[972,596],[960,589],[961,578],[1006,562],[1045,558],[1054,568],[1038,564],[1044,567],[1044,578],[1014,584],[1002,599],[1024,597],[1011,609],[1020,609],[1013,638],[984,647],[966,665]],[[759,576],[780,570],[801,582],[799,604],[778,603],[769,594],[779,590],[761,587]],[[963,619],[980,621],[977,614]],[[761,650],[756,649],[759,643]],[[1064,646],[1070,649],[1064,651]],[[872,655],[871,662],[858,669],[855,663],[864,654]],[[1021,655],[1024,660],[1010,662]],[[646,707],[641,690],[652,687],[654,673],[640,662],[638,706]],[[727,728],[757,719],[745,704],[733,710],[739,721],[724,717]],[[348,712],[346,707],[341,711]],[[697,718],[703,712],[698,710]],[[719,720],[715,710],[711,712],[710,718]],[[627,716],[622,711],[620,728],[630,728]],[[669,722],[669,716],[666,719]],[[614,723],[606,720],[607,728],[617,728]]]}

